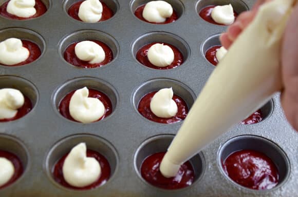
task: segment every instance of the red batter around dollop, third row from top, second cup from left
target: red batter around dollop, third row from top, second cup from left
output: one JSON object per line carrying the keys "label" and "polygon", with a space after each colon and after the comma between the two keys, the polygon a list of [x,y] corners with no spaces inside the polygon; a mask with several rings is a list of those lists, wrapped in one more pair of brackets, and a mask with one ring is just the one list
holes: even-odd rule
{"label": "red batter around dollop, third row from top, second cup from left", "polygon": [[[70,102],[70,99],[71,99],[71,96],[73,95],[73,93],[75,92],[76,90],[68,93],[60,102],[59,104],[59,111],[61,113],[61,115],[63,115],[64,117],[66,117],[67,119],[71,120],[71,121],[74,121],[74,122],[78,122],[76,120],[74,120],[70,113],[69,113],[69,102]],[[105,117],[107,117],[108,115],[111,114],[112,112],[112,104],[109,100],[109,98],[107,97],[107,95],[105,95],[104,93],[98,91],[98,90],[94,90],[94,89],[89,89],[89,95],[88,97],[92,97],[92,98],[97,98],[99,99],[103,105],[104,105],[104,108],[105,108],[105,112],[103,114],[103,116],[97,120],[97,121],[100,121],[102,119],[104,119]],[[95,122],[97,122],[95,121]]]}

